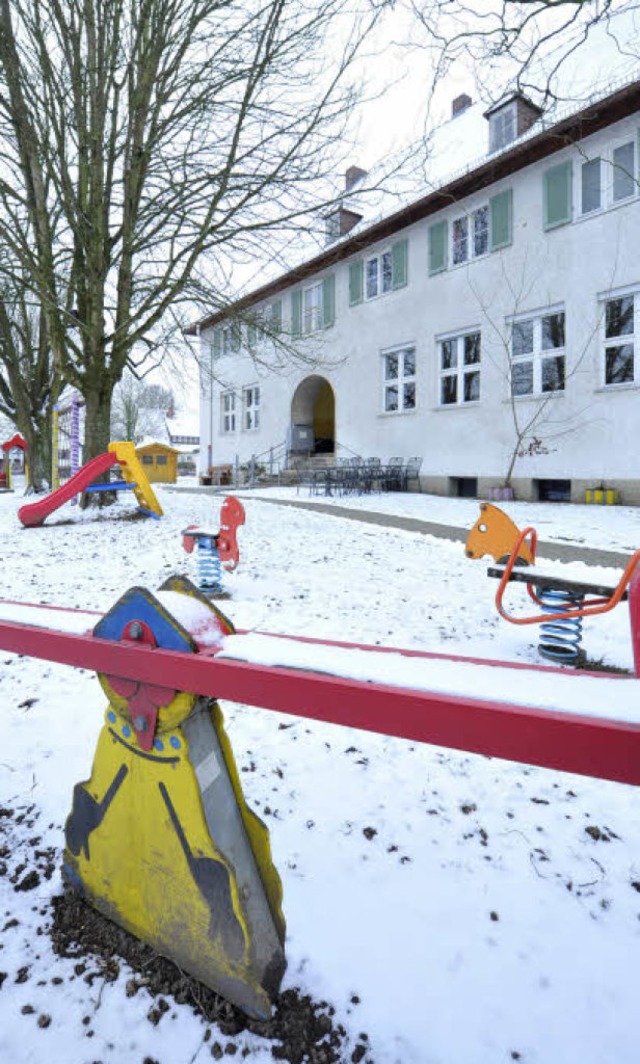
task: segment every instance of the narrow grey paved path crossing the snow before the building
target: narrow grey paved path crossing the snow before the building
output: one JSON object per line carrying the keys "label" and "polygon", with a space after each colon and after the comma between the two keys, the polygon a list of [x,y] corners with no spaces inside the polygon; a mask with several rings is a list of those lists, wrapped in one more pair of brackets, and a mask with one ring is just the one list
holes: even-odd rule
{"label": "narrow grey paved path crossing the snow before the building", "polygon": [[[190,491],[190,488],[179,488],[178,491]],[[195,493],[203,489],[195,487]],[[207,488],[204,488],[206,492]],[[230,491],[230,489],[222,489]],[[220,494],[220,488],[214,488],[210,494]],[[234,492],[238,498],[242,498],[242,492]],[[365,525],[378,525],[389,529],[404,529],[406,532],[418,532],[422,535],[434,535],[439,539],[451,539],[454,543],[466,543],[469,529],[455,528],[452,525],[439,525],[436,521],[422,521],[416,517],[401,517],[398,514],[376,514],[367,510],[349,510],[347,506],[336,506],[331,502],[305,502],[304,499],[269,499],[267,495],[256,497],[254,495],[245,496],[256,502],[268,502],[274,506],[293,506],[297,510],[311,510],[321,514],[329,514],[331,517],[342,517],[350,521],[361,521]],[[617,550],[602,550],[597,547],[580,547],[577,544],[549,543],[543,539],[538,541],[538,556],[545,558],[550,562],[585,562],[587,565],[603,565],[609,568],[623,569],[628,562],[630,554],[625,554]]]}

